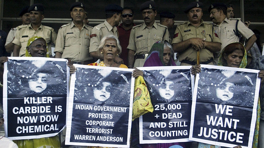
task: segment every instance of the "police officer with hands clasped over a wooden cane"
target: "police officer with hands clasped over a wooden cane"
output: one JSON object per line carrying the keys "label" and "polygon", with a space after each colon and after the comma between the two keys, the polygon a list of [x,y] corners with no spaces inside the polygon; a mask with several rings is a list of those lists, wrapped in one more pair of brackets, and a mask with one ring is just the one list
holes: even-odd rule
{"label": "police officer with hands clasped over a wooden cane", "polygon": [[174,52],[179,55],[181,66],[195,65],[197,51],[200,51],[200,64],[213,65],[213,52],[220,51],[221,42],[212,24],[201,18],[203,3],[193,2],[185,9],[188,22],[178,25],[172,40]]}

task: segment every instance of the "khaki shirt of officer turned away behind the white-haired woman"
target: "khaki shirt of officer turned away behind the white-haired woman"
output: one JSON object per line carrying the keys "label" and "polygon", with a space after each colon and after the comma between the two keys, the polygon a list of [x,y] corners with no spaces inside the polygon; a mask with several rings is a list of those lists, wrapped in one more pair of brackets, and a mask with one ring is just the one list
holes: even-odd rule
{"label": "khaki shirt of officer turned away behind the white-haired woman", "polygon": [[98,51],[99,43],[101,39],[106,35],[114,35],[118,38],[118,31],[116,26],[112,27],[106,20],[92,30],[90,41],[90,52]]}

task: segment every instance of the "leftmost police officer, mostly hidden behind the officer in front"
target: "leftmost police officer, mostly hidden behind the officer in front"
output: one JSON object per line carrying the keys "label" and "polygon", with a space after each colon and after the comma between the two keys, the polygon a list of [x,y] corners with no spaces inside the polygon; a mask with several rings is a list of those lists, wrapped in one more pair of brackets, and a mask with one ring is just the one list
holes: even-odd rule
{"label": "leftmost police officer, mostly hidden behind the officer in front", "polygon": [[[22,20],[22,25],[30,24],[30,16],[28,13],[28,8],[29,6],[24,7],[19,13],[19,17]],[[7,35],[5,48],[8,53],[11,53],[14,49],[14,44],[12,44],[12,41],[15,38],[16,31],[17,31],[17,27],[12,28]],[[11,53],[11,56],[13,56],[13,52]]]}

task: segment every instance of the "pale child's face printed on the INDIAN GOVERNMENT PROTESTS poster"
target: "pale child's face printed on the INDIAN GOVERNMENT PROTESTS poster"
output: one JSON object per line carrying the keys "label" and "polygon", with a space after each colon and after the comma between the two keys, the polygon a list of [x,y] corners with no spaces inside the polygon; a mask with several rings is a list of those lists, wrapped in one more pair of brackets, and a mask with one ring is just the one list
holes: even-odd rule
{"label": "pale child's face printed on the INDIAN GOVERNMENT PROTESTS poster", "polygon": [[110,97],[111,83],[102,82],[94,89],[94,98],[99,101],[106,101]]}

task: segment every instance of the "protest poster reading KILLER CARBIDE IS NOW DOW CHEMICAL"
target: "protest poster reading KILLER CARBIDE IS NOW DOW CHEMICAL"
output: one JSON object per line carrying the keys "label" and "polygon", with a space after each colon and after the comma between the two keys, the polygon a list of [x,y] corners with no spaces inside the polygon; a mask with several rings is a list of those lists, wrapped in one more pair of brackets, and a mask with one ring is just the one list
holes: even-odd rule
{"label": "protest poster reading KILLER CARBIDE IS NOW DOW CHEMICAL", "polygon": [[3,74],[5,136],[35,139],[63,130],[68,75],[65,59],[8,57]]}

